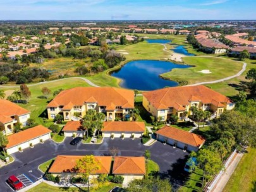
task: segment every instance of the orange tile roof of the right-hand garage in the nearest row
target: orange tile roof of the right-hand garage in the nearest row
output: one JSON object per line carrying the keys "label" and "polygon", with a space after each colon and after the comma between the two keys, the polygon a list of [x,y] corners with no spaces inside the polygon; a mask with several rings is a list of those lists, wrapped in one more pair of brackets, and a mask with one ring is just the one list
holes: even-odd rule
{"label": "orange tile roof of the right-hand garage in the nearest row", "polygon": [[145,157],[114,157],[113,174],[146,174]]}

